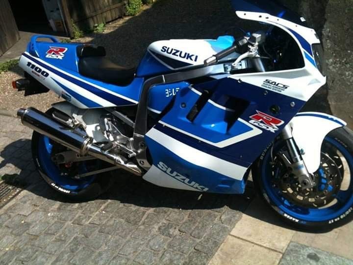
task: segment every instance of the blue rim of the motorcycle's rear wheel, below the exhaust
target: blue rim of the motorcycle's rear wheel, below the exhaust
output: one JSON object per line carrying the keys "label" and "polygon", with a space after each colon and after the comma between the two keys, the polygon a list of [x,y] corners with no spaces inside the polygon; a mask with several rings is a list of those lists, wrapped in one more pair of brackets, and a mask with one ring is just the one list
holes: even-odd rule
{"label": "blue rim of the motorcycle's rear wheel, below the exhaust", "polygon": [[[40,135],[38,141],[38,159],[39,163],[44,170],[45,174],[54,182],[56,185],[73,191],[78,192],[89,185],[95,180],[95,176],[89,176],[80,180],[75,180],[62,176],[60,169],[51,160],[53,145],[50,143],[50,139],[44,135]],[[85,163],[79,167],[79,174],[87,173]]]}

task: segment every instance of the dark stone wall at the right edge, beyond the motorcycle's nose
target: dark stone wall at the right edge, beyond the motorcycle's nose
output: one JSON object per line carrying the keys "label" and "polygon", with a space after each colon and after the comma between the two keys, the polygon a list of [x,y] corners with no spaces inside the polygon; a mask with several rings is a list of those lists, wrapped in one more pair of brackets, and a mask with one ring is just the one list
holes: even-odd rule
{"label": "dark stone wall at the right edge, beyond the motorcycle's nose", "polygon": [[353,129],[353,0],[329,0],[323,41],[332,112]]}

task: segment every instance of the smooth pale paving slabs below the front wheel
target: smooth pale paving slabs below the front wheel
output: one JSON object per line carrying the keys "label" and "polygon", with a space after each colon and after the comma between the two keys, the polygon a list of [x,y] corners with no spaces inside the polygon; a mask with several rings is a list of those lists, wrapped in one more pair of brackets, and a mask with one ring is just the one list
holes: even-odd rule
{"label": "smooth pale paving slabs below the front wheel", "polygon": [[252,200],[210,265],[353,265],[353,222],[326,233],[303,233]]}

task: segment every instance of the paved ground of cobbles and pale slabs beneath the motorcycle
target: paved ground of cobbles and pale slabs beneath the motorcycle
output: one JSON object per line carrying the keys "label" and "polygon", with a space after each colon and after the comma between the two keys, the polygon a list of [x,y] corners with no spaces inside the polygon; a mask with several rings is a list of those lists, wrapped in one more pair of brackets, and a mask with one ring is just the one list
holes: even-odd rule
{"label": "paved ground of cobbles and pale slabs beneath the motorcycle", "polygon": [[24,190],[0,209],[0,264],[352,264],[353,223],[295,231],[253,196],[161,188],[117,172],[70,202],[36,172],[31,131],[0,115],[0,176]]}

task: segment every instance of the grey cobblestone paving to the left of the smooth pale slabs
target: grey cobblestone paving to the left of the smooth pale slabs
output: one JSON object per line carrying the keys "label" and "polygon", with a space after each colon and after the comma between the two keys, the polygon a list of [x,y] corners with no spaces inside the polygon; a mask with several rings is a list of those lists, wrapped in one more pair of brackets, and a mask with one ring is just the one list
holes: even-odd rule
{"label": "grey cobblestone paving to the left of the smooth pale slabs", "polygon": [[0,175],[28,185],[0,210],[0,264],[207,264],[251,200],[125,174],[97,200],[68,202],[35,172],[30,130],[0,124]]}

